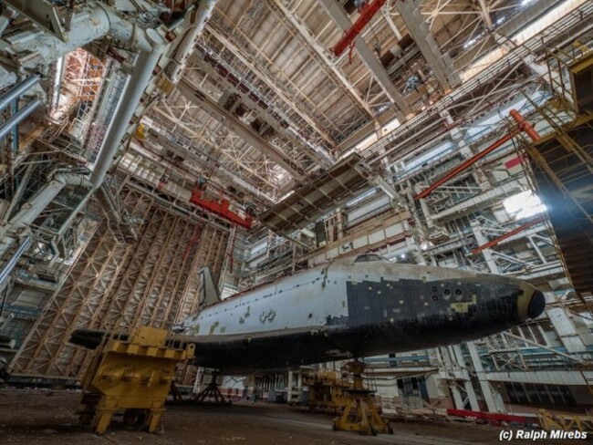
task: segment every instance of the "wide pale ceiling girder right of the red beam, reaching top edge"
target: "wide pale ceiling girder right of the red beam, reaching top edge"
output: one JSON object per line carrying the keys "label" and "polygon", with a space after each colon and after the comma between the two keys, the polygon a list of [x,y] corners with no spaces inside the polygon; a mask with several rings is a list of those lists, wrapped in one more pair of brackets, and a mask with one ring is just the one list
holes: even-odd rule
{"label": "wide pale ceiling girder right of the red beam, reaching top edge", "polygon": [[461,78],[453,72],[453,60],[448,55],[442,54],[441,48],[421,16],[419,4],[415,0],[405,2],[400,0],[396,2],[396,7],[442,89],[453,89],[461,84]]}

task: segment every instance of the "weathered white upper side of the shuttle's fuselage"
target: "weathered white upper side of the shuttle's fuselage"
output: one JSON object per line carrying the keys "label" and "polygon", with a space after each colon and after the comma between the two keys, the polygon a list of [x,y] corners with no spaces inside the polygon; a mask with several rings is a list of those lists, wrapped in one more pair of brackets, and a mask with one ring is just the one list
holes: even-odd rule
{"label": "weathered white upper side of the shuttle's fuselage", "polygon": [[[283,277],[206,307],[184,322],[192,336],[224,336],[326,326],[328,317],[349,316],[347,282],[417,279],[419,282],[478,278],[474,272],[387,260],[354,263],[354,258]],[[406,295],[407,298],[418,295]]]}

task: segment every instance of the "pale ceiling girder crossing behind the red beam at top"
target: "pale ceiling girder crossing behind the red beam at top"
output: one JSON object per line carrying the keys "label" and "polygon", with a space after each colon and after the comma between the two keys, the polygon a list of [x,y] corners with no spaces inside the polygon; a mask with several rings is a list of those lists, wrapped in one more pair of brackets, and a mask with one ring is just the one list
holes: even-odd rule
{"label": "pale ceiling girder crossing behind the red beam at top", "polygon": [[[336,0],[319,0],[321,5],[324,6],[328,15],[338,24],[338,26],[346,31],[352,26],[352,22],[344,8],[338,4]],[[367,46],[362,36],[357,36],[354,39],[355,47],[359,52],[359,56],[364,61],[365,65],[369,68],[373,77],[377,79],[379,85],[390,100],[401,110],[403,115],[410,114],[410,108],[408,104],[401,97],[400,92],[391,83],[391,79],[387,74],[385,68],[380,64],[379,59],[375,56],[373,51]],[[401,117],[400,117],[401,118]]]}

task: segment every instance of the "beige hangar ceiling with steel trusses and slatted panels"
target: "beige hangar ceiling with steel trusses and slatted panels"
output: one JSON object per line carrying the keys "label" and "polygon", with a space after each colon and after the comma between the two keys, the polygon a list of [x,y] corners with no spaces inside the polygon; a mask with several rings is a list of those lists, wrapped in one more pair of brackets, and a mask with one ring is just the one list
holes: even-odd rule
{"label": "beige hangar ceiling with steel trusses and slatted panels", "polygon": [[[439,100],[453,108],[458,100],[464,102],[465,109],[453,113],[453,119],[467,119],[480,110],[474,102],[495,94],[496,88],[525,81],[533,73],[520,69],[521,64],[510,73],[504,70],[504,77],[499,78],[502,69],[486,76],[496,88],[484,88],[484,79],[472,82],[468,71],[495,47],[512,53],[509,36],[558,3],[390,1],[370,20],[361,41],[335,57],[331,48],[343,34],[339,14],[348,16],[352,8],[347,2],[338,14],[332,2],[217,2],[184,73],[187,88],[161,100],[144,123],[153,132],[186,139],[185,149],[192,154],[182,159],[192,174],[217,178],[221,187],[230,185],[231,191],[265,209],[297,181],[333,165],[360,140],[390,122],[393,126],[393,119],[411,122],[411,130],[424,128],[440,119],[434,110],[426,112]],[[349,20],[357,15],[354,10]],[[406,23],[405,18],[419,15],[425,26]],[[421,33],[421,45],[407,37]],[[398,53],[399,42],[408,47]],[[397,55],[390,56],[391,51]],[[374,63],[367,63],[368,52]],[[452,64],[443,65],[449,58]],[[425,77],[431,103],[405,94],[412,70]],[[190,97],[190,89],[203,99]],[[443,128],[441,121],[436,129]],[[407,127],[400,133],[403,129]],[[404,140],[402,136],[395,139]],[[418,140],[409,142],[407,151]],[[155,145],[152,150],[179,160],[178,152]],[[375,145],[363,153],[370,162],[385,151]],[[195,155],[201,165],[189,160]]]}

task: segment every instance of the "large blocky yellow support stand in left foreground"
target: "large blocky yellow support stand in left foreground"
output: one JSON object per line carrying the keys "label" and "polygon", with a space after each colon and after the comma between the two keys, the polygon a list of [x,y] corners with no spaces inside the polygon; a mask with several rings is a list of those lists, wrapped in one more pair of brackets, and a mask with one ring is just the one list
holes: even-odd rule
{"label": "large blocky yellow support stand in left foreground", "polygon": [[83,378],[80,421],[103,434],[114,414],[156,432],[176,365],[193,357],[194,346],[167,345],[168,331],[137,328],[127,341],[107,339]]}

